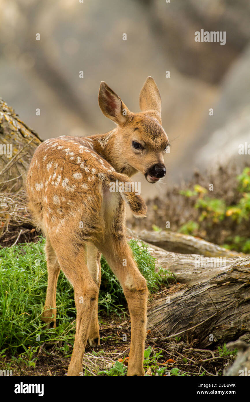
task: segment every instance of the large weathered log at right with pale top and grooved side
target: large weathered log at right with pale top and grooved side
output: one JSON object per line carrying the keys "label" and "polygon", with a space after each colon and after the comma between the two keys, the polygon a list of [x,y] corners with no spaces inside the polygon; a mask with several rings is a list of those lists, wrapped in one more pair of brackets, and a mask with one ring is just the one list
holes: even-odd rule
{"label": "large weathered log at right with pale top and grooved side", "polygon": [[[127,234],[139,239],[131,230]],[[210,257],[205,264],[197,254],[177,254],[152,244],[148,251],[157,258],[156,267],[170,270],[180,283],[176,291],[172,286],[150,303],[148,329],[157,338],[178,336],[202,349],[250,341],[249,256]]]}

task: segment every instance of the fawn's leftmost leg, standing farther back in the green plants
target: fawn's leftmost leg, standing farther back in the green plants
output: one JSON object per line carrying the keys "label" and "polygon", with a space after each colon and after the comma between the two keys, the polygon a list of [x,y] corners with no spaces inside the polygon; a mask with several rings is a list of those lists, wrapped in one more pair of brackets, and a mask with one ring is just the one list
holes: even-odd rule
{"label": "fawn's leftmost leg, standing farther back in the green plants", "polygon": [[53,323],[53,328],[55,328],[55,320],[57,314],[56,308],[56,291],[57,291],[57,279],[60,273],[60,265],[57,260],[57,256],[49,237],[46,238],[45,253],[47,257],[47,270],[48,270],[48,287],[45,300],[44,311],[42,313],[41,319],[46,322],[48,328],[51,327]]}

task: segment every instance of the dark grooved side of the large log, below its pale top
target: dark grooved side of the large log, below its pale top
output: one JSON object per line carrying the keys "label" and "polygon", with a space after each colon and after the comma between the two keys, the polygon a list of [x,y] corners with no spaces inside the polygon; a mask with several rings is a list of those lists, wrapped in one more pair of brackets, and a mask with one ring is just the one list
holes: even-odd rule
{"label": "dark grooved side of the large log, below its pale top", "polygon": [[[249,341],[250,258],[220,271],[216,269],[208,280],[178,289],[169,298],[152,301],[148,327],[157,328],[162,338],[180,334],[201,348],[238,338]],[[191,327],[195,328],[189,330]]]}

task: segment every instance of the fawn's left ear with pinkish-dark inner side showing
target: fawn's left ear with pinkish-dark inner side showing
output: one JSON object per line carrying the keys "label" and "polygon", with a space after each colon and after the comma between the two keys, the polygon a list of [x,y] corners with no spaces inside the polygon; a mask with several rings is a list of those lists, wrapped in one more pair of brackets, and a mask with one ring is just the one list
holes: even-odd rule
{"label": "fawn's left ear with pinkish-dark inner side showing", "polygon": [[100,84],[98,102],[104,116],[119,125],[123,125],[128,115],[130,115],[130,111],[126,105],[124,105],[119,96],[104,81]]}

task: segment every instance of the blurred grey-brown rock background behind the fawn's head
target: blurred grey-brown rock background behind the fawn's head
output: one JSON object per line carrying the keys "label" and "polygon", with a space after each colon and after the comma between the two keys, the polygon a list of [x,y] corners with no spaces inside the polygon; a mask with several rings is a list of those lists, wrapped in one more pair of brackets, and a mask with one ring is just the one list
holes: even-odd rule
{"label": "blurred grey-brown rock background behind the fawn's head", "polygon": [[[249,159],[238,154],[250,142],[249,21],[248,0],[0,0],[0,96],[43,139],[93,135],[114,127],[101,80],[136,112],[153,76],[171,153],[162,183],[135,180],[142,196],[166,197],[194,168]],[[226,45],[195,42],[201,29],[226,31]]]}

